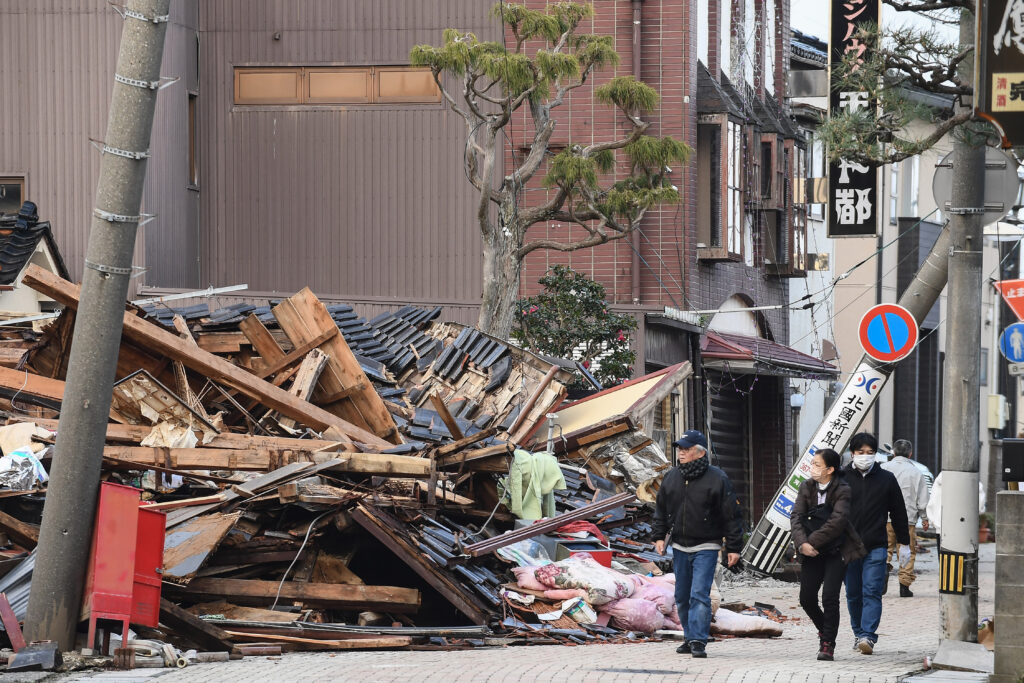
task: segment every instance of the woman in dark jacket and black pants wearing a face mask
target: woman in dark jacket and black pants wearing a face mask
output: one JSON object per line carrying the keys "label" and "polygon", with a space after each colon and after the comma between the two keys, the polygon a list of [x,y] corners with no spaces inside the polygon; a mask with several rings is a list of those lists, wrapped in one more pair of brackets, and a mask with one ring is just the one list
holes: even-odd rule
{"label": "woman in dark jacket and black pants wearing a face mask", "polygon": [[[811,478],[800,485],[790,526],[800,556],[800,606],[818,629],[818,659],[831,661],[839,635],[839,590],[846,565],[866,551],[850,526],[850,485],[840,455],[823,449],[811,458]],[[821,606],[818,606],[821,591]]]}

